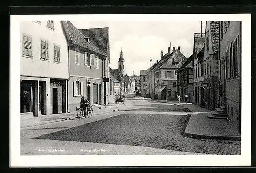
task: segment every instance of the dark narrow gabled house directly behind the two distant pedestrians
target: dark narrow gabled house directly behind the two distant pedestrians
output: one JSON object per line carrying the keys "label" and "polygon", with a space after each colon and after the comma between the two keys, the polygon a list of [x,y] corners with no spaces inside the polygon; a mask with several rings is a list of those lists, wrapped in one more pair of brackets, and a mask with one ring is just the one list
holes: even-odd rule
{"label": "dark narrow gabled house directly behind the two distant pedestrians", "polygon": [[188,95],[188,102],[194,102],[194,76],[193,76],[193,54],[176,71],[177,74],[177,93],[184,101],[185,94]]}

